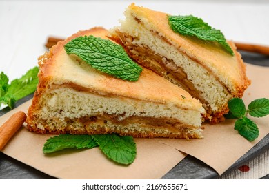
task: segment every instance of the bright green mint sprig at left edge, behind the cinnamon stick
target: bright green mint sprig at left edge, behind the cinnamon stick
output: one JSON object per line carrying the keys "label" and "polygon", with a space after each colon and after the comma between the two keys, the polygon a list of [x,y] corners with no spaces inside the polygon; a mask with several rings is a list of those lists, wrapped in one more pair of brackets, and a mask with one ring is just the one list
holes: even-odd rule
{"label": "bright green mint sprig at left edge, behind the cinnamon stick", "polygon": [[39,68],[36,66],[20,79],[14,79],[9,84],[8,76],[1,72],[0,74],[0,105],[8,105],[10,109],[19,99],[33,93],[37,89]]}

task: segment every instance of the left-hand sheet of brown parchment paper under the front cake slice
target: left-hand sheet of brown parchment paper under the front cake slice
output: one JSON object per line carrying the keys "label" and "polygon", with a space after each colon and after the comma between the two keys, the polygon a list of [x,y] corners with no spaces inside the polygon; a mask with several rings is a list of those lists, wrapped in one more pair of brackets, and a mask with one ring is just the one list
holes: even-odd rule
{"label": "left-hand sheet of brown parchment paper under the front cake slice", "polygon": [[[0,117],[0,125],[15,111],[27,112],[31,101]],[[128,166],[118,165],[99,150],[67,150],[45,156],[43,144],[52,135],[29,132],[23,125],[2,152],[41,172],[60,179],[159,179],[186,154],[155,139],[135,139],[137,157]]]}

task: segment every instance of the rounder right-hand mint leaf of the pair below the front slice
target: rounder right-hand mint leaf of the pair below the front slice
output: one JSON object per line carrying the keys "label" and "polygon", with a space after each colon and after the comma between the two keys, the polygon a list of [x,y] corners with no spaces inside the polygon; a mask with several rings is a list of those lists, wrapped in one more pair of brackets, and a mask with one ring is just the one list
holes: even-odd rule
{"label": "rounder right-hand mint leaf of the pair below the front slice", "polygon": [[135,161],[137,148],[132,136],[117,134],[99,134],[92,136],[98,143],[100,150],[109,159],[117,163],[128,165]]}

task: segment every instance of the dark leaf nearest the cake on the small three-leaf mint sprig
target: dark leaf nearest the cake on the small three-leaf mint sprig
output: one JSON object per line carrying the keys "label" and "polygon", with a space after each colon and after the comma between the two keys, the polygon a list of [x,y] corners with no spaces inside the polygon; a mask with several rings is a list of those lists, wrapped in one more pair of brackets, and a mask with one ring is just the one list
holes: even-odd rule
{"label": "dark leaf nearest the cake on the small three-leaf mint sprig", "polygon": [[228,101],[228,108],[233,116],[241,118],[246,115],[246,106],[240,98],[233,98]]}

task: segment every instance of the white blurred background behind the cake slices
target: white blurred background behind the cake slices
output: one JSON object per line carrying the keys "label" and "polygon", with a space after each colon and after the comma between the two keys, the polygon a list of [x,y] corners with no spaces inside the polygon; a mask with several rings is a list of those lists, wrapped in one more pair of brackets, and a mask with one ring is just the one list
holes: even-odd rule
{"label": "white blurred background behind the cake slices", "polygon": [[68,37],[94,26],[119,25],[135,2],[174,15],[192,14],[223,32],[226,39],[269,45],[269,1],[1,1],[0,72],[10,80],[37,65],[48,36]]}

